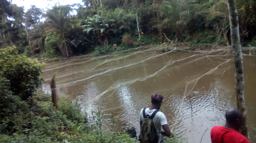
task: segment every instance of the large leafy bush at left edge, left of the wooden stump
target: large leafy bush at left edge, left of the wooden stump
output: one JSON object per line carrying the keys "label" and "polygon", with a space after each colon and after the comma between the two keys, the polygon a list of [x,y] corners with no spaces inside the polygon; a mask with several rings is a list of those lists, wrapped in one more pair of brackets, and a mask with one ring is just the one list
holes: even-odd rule
{"label": "large leafy bush at left edge, left of the wooden stump", "polygon": [[15,46],[0,49],[0,69],[3,76],[9,80],[10,90],[22,100],[32,97],[36,88],[40,87],[43,65],[37,60],[26,56],[18,56]]}

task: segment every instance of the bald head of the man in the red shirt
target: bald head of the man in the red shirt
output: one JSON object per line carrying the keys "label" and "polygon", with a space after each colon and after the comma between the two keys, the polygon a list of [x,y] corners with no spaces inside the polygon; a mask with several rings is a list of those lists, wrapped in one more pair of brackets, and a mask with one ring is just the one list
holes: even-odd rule
{"label": "bald head of the man in the red shirt", "polygon": [[238,109],[228,109],[225,114],[226,123],[234,128],[235,130],[239,130],[243,123],[243,113]]}

